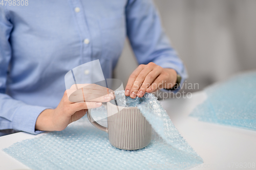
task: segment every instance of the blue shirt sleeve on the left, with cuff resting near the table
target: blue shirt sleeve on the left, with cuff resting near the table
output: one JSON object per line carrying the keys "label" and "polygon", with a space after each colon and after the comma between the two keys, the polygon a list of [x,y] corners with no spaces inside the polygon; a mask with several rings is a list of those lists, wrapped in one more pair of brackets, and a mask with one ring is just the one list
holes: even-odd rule
{"label": "blue shirt sleeve on the left, with cuff resting near the table", "polygon": [[13,25],[8,19],[5,7],[0,6],[0,130],[15,129],[32,134],[38,115],[47,109],[41,106],[31,106],[12,99],[6,94],[7,75],[11,60],[11,45],[9,42]]}

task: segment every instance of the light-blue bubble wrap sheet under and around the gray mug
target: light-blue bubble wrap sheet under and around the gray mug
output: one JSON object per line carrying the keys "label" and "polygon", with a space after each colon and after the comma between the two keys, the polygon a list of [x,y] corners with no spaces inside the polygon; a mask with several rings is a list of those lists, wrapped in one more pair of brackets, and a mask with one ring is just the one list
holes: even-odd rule
{"label": "light-blue bubble wrap sheet under and around the gray mug", "polygon": [[[107,133],[83,117],[63,131],[17,142],[4,152],[32,169],[188,169],[203,163],[153,94],[146,93],[141,99],[125,97],[124,91],[115,95],[118,105],[138,106],[152,125],[152,141],[147,147],[117,149],[110,144]],[[93,109],[92,116],[106,126],[104,107]]]}

